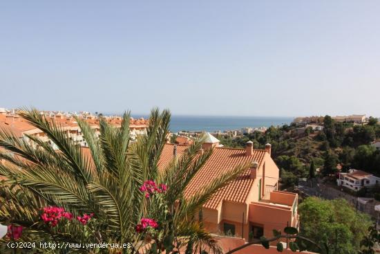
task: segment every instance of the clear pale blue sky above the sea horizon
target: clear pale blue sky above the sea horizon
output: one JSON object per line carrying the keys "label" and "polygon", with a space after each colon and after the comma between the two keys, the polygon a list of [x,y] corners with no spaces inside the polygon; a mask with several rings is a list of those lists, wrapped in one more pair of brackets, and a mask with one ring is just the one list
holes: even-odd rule
{"label": "clear pale blue sky above the sea horizon", "polygon": [[0,107],[380,116],[380,1],[1,1]]}

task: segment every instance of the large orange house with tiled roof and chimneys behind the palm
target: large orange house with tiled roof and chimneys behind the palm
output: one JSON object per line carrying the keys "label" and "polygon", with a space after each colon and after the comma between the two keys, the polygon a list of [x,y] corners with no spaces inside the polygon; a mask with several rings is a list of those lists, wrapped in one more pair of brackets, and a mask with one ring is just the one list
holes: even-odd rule
{"label": "large orange house with tiled roof and chimneys behind the palm", "polygon": [[[214,137],[207,139],[209,142],[203,149],[213,148],[213,154],[191,181],[186,195],[191,196],[222,172],[246,163],[251,165],[202,208],[203,221],[210,233],[234,235],[248,241],[252,237],[272,237],[274,229],[298,227],[298,196],[278,190],[279,170],[271,158],[271,145],[254,149],[249,141],[246,149],[226,148],[220,147]],[[181,156],[187,147],[164,145],[159,166],[167,166],[173,156]]]}

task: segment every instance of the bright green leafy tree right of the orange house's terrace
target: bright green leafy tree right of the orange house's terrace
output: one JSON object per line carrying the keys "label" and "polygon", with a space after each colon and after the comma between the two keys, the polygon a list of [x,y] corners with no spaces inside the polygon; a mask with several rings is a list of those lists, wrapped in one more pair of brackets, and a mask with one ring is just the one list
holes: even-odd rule
{"label": "bright green leafy tree right of the orange house's terrace", "polygon": [[372,224],[370,217],[354,210],[344,199],[309,197],[299,205],[298,212],[302,221],[300,235],[327,244],[331,253],[337,254],[359,253],[361,240]]}

